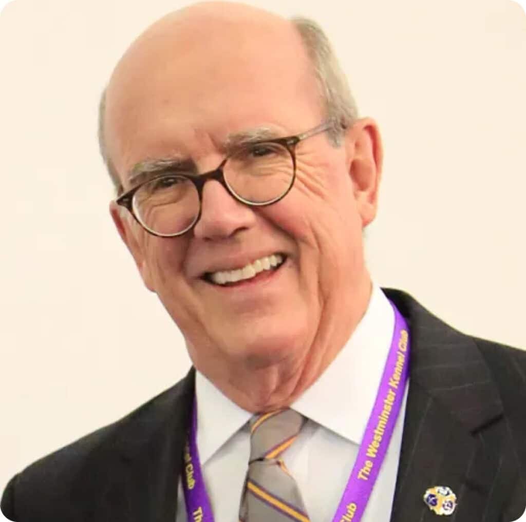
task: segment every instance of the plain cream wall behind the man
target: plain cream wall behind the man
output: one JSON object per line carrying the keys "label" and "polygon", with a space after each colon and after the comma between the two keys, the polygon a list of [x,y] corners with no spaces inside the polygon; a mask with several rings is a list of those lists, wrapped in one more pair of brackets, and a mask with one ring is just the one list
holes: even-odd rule
{"label": "plain cream wall behind the man", "polygon": [[[107,210],[100,91],[177,0],[15,0],[0,16],[0,490],[183,376],[185,346]],[[326,29],[385,146],[375,280],[526,347],[526,16],[508,0],[254,0]],[[343,4],[343,5],[342,5]],[[294,100],[291,100],[294,103]]]}

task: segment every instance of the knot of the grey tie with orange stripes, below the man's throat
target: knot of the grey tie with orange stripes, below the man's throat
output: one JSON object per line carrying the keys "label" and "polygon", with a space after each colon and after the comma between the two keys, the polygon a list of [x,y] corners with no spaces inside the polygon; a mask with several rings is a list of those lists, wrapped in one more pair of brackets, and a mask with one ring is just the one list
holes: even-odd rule
{"label": "knot of the grey tie with orange stripes, below the man's throat", "polygon": [[305,421],[290,409],[254,415],[250,419],[250,462],[277,458],[295,441]]}

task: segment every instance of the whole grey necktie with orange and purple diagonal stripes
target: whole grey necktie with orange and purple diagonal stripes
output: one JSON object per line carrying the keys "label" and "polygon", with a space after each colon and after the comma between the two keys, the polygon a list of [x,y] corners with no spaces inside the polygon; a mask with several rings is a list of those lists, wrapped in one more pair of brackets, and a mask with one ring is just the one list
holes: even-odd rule
{"label": "whole grey necktie with orange and purple diagonal stripes", "polygon": [[279,456],[296,440],[305,417],[293,410],[250,419],[250,460],[241,522],[309,522],[296,481]]}

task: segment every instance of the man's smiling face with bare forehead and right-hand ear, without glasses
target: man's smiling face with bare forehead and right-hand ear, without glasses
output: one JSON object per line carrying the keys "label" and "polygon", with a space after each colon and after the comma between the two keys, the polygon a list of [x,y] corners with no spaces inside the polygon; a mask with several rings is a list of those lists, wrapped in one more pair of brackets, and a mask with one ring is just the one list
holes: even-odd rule
{"label": "man's smiling face with bare forehead and right-hand ear, without glasses", "polygon": [[[127,189],[126,172],[145,159],[187,158],[205,172],[233,134],[267,127],[289,136],[324,118],[305,50],[286,23],[216,16],[196,26],[183,17],[161,22],[117,68],[106,135]],[[198,367],[225,357],[300,364],[321,357],[313,347],[322,351],[363,312],[370,282],[361,232],[375,214],[379,157],[370,122],[358,122],[339,148],[325,133],[311,137],[297,146],[297,177],[284,199],[248,207],[209,181],[200,220],[176,238],[154,237],[112,207],[145,284]],[[218,285],[205,275],[273,254],[284,263],[253,280]]]}

